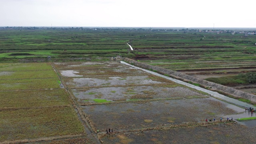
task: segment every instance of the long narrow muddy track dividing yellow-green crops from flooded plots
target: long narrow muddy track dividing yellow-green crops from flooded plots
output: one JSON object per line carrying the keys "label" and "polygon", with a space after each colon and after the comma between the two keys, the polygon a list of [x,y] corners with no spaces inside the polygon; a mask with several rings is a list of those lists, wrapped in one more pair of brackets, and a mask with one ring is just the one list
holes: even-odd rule
{"label": "long narrow muddy track dividing yellow-green crops from flooded plots", "polygon": [[52,68],[54,69],[54,72],[56,72],[60,82],[63,85],[63,88],[65,88],[66,92],[68,92],[69,94],[69,98],[72,100],[72,105],[74,107],[74,109],[76,110],[76,112],[78,112],[78,118],[81,120],[82,124],[84,125],[84,129],[86,132],[86,137],[90,138],[90,140],[94,140],[94,142],[100,144],[100,140],[97,138],[96,132],[94,132],[95,130],[93,130],[93,128],[90,126],[89,122],[88,122],[88,117],[86,114],[84,114],[84,112],[80,109],[80,107],[78,106],[78,103],[76,101],[75,96],[72,94],[72,92],[70,92],[70,90],[67,88],[66,84],[63,83],[62,80],[62,76],[60,75],[60,73],[58,72],[58,70],[56,70],[54,64],[52,63]]}

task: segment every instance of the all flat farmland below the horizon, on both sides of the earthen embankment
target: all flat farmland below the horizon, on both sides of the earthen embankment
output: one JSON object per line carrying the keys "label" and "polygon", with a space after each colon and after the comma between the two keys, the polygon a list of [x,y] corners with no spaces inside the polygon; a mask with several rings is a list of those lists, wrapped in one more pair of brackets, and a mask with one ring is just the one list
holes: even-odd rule
{"label": "all flat farmland below the horizon, on both sides of the earthen embankment", "polygon": [[[256,70],[255,38],[143,29],[1,30],[0,143],[255,143],[246,135],[255,127],[224,121],[255,113],[110,60],[122,55],[202,79],[237,79]],[[227,85],[255,91],[254,84]],[[106,134],[108,128],[114,132]]]}

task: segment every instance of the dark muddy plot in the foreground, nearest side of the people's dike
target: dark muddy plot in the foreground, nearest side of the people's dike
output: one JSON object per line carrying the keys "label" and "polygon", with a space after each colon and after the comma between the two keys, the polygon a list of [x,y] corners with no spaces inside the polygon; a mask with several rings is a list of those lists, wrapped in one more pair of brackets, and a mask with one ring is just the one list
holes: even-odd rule
{"label": "dark muddy plot in the foreground, nearest side of the people's dike", "polygon": [[244,144],[256,143],[256,128],[240,124],[222,123],[207,126],[171,128],[169,130],[148,130],[111,134],[102,138],[103,142],[114,144]]}

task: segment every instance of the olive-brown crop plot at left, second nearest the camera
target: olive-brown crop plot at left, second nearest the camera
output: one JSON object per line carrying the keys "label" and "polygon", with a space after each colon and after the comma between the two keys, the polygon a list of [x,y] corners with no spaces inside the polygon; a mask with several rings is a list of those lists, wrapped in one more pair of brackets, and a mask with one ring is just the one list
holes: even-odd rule
{"label": "olive-brown crop plot at left, second nearest the camera", "polygon": [[1,108],[33,108],[70,104],[68,93],[64,89],[0,92],[0,100]]}

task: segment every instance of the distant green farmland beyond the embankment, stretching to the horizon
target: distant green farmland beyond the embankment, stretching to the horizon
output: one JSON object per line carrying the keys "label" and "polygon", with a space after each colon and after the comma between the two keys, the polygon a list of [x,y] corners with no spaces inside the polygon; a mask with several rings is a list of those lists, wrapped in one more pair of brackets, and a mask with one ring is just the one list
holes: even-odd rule
{"label": "distant green farmland beyond the embankment, stretching to the horizon", "polygon": [[[233,31],[236,29],[212,32],[151,28],[3,29],[0,32],[0,60],[37,61],[51,56],[50,61],[66,61],[67,58],[98,61],[121,55],[202,79],[233,79],[230,76],[256,72],[256,35],[245,36],[239,33],[241,30],[232,35]],[[224,85],[255,93],[254,85],[234,81]]]}

